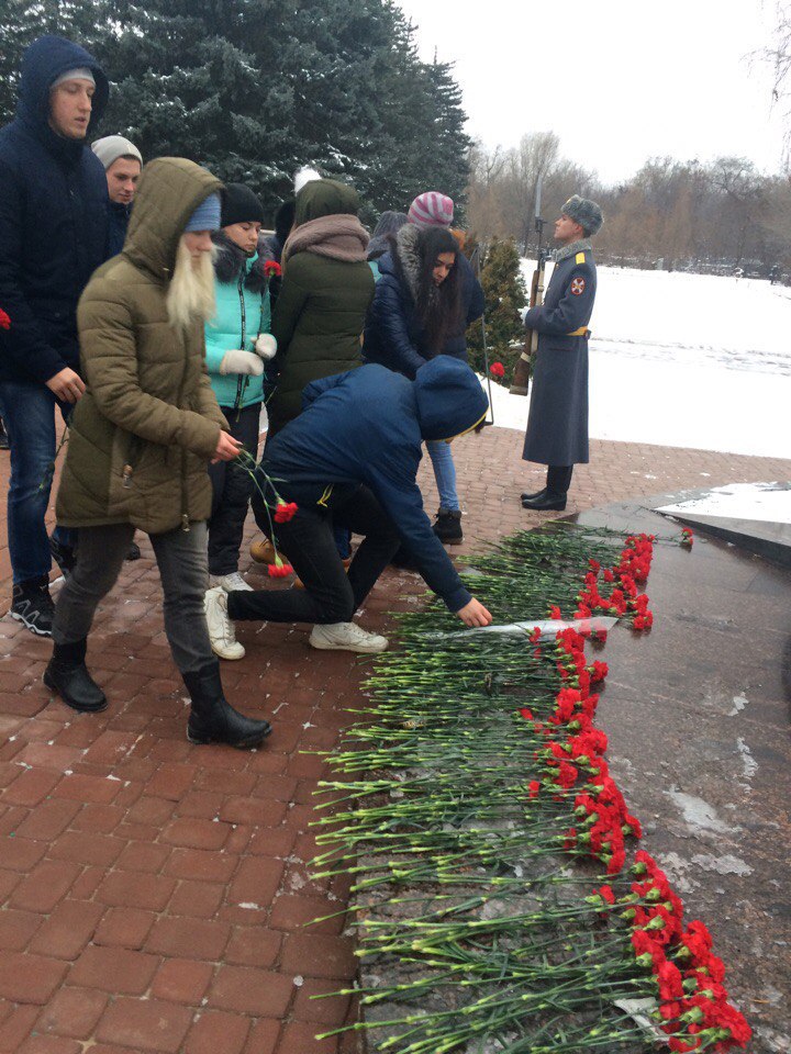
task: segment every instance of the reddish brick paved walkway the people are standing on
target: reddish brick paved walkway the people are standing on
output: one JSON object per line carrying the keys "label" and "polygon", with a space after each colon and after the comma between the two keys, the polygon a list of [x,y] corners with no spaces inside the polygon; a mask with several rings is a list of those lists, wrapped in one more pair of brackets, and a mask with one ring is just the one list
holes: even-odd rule
{"label": "reddish brick paved walkway the people are standing on", "polygon": [[[541,522],[516,501],[543,482],[521,435],[488,429],[455,446],[468,551]],[[682,486],[791,479],[791,462],[594,442],[573,507]],[[0,455],[4,492],[8,456]],[[426,504],[435,507],[426,478]],[[250,530],[252,536],[252,530]],[[0,612],[8,553],[0,529]],[[51,646],[0,620],[0,1054],[350,1054],[319,1043],[348,1000],[311,1000],[355,973],[347,883],[311,881],[311,751],[332,747],[360,705],[365,666],[314,652],[304,627],[241,627],[247,657],[223,666],[230,697],[275,715],[253,753],[185,740],[183,689],[159,614],[147,539],[100,610],[89,661],[110,707],[51,700]],[[247,558],[243,560],[243,568]],[[255,584],[268,580],[259,569]],[[382,629],[413,575],[388,572],[366,604]]]}

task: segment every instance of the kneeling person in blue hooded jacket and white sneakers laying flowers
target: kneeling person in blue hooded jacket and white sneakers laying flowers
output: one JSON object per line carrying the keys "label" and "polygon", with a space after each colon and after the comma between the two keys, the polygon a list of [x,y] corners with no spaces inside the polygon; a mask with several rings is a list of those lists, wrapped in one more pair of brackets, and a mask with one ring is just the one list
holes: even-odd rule
{"label": "kneeling person in blue hooded jacket and white sneakers laying flowers", "polygon": [[[304,590],[210,590],[212,643],[235,639],[233,621],[260,619],[313,623],[314,648],[383,651],[387,639],[352,617],[400,546],[466,626],[488,626],[492,617],[464,586],[432,530],[415,480],[425,440],[449,441],[486,416],[488,400],[472,370],[441,355],[410,381],[370,363],[313,381],[302,399],[302,414],[267,445],[260,487],[274,506],[267,478],[276,481],[282,501],[298,506],[290,520],[275,523],[275,540]],[[258,526],[268,528],[258,491],[253,511]],[[333,525],[365,536],[348,575]]]}

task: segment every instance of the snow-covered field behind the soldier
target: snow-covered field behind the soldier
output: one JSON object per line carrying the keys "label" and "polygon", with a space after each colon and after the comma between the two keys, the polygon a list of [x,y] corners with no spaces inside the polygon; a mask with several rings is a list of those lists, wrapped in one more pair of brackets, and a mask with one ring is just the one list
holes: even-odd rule
{"label": "snow-covered field behind the soldier", "polygon": [[[791,289],[600,267],[590,328],[592,437],[791,458]],[[492,390],[524,428],[530,401]]]}

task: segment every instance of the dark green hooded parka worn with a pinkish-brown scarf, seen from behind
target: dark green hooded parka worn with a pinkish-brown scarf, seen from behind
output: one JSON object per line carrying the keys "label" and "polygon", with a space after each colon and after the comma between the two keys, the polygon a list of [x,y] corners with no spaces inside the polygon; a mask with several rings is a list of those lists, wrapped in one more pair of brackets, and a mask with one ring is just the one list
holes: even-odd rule
{"label": "dark green hooded parka worn with a pinkish-brown scarf, seen from behind", "polygon": [[[356,216],[358,208],[353,187],[315,180],[297,195],[294,231],[325,217]],[[367,242],[361,227],[360,232]],[[360,338],[375,290],[366,247],[360,247],[355,261],[333,258],[332,249],[324,255],[326,248],[298,250],[283,265],[282,287],[272,313],[279,375],[267,404],[270,435],[302,412],[305,384],[354,369],[363,361]]]}

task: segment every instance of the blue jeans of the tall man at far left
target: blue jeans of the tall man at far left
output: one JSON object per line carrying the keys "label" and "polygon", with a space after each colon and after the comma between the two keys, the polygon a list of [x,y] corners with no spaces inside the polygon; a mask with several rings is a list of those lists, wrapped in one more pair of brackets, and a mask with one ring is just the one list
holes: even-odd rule
{"label": "blue jeans of the tall man at far left", "polygon": [[[46,384],[0,381],[3,424],[11,442],[11,483],[8,496],[9,552],[14,584],[49,574],[52,553],[44,517],[55,459],[55,406],[64,421],[71,410]],[[74,543],[74,531],[56,527],[54,537]]]}

